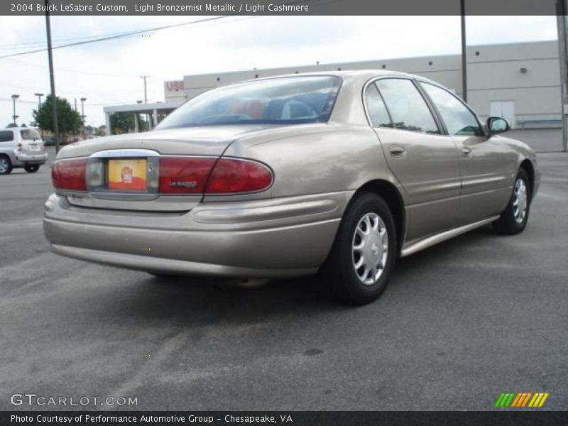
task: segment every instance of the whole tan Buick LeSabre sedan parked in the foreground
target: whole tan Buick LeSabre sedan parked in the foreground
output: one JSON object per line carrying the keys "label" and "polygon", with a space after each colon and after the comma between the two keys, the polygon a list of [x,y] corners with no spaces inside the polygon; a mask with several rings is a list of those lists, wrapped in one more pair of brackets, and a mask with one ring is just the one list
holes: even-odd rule
{"label": "whole tan Buick LeSabre sedan parked in the foreground", "polygon": [[506,130],[398,72],[231,84],[154,131],[63,148],[45,236],[63,256],[156,275],[320,273],[364,304],[400,256],[491,222],[523,231],[540,173]]}

